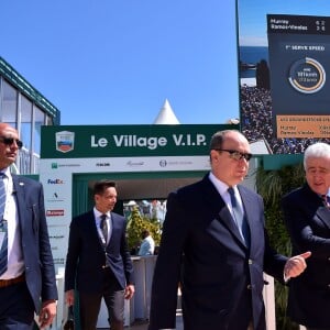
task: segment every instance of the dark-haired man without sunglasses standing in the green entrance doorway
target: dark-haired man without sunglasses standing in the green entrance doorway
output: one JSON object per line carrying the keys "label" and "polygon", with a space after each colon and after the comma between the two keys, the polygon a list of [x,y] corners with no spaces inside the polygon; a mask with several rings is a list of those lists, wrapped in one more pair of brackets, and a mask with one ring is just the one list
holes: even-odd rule
{"label": "dark-haired man without sunglasses standing in the green entrance doorway", "polygon": [[124,299],[134,295],[133,265],[125,239],[127,221],[111,212],[117,202],[113,182],[97,182],[94,198],[94,209],[74,218],[70,223],[65,266],[66,302],[69,306],[75,302],[76,287],[81,329],[95,330],[103,298],[111,330],[122,330]]}

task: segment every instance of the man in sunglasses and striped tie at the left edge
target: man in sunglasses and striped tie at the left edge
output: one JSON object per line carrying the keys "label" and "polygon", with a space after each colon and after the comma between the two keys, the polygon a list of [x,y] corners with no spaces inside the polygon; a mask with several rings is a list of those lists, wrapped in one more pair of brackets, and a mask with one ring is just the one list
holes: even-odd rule
{"label": "man in sunglasses and striped tie at the left edge", "polygon": [[0,123],[0,185],[6,197],[0,206],[0,329],[28,330],[34,311],[41,327],[52,323],[57,288],[43,187],[10,172],[21,147],[18,131]]}

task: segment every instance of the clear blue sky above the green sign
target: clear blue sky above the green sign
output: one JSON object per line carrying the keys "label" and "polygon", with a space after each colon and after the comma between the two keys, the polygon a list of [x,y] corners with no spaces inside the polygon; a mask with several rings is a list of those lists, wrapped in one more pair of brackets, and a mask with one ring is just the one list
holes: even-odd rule
{"label": "clear blue sky above the green sign", "polygon": [[165,99],[183,124],[239,116],[233,0],[3,1],[1,26],[62,124],[148,124]]}

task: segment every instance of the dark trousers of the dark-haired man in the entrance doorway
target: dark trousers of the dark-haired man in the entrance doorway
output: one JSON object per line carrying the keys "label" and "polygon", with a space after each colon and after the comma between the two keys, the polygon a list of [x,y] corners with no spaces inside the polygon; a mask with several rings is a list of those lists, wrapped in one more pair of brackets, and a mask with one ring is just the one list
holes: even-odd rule
{"label": "dark trousers of the dark-haired man in the entrance doorway", "polygon": [[79,292],[79,314],[81,330],[95,330],[101,301],[105,299],[111,330],[122,330],[124,323],[124,290],[112,273],[105,271],[103,290],[90,294]]}

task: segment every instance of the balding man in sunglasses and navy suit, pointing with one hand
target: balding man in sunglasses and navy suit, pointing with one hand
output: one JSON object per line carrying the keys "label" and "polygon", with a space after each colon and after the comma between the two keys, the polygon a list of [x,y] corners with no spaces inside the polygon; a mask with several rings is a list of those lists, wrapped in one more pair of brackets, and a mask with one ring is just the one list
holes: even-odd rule
{"label": "balding man in sunglasses and navy suit, pointing with one hand", "polygon": [[185,330],[264,330],[263,271],[284,282],[305,270],[309,253],[287,260],[271,249],[261,196],[238,185],[251,156],[239,131],[218,132],[211,172],[169,194],[150,330],[175,329],[178,283]]}

